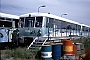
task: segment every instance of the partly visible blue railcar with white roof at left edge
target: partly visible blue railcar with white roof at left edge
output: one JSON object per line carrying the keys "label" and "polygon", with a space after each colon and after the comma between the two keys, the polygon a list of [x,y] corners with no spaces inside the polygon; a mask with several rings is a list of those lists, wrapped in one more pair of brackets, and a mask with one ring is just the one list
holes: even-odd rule
{"label": "partly visible blue railcar with white roof at left edge", "polygon": [[12,34],[17,29],[19,16],[0,12],[0,45],[7,45],[13,42]]}

